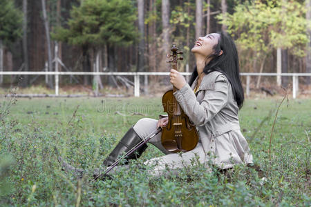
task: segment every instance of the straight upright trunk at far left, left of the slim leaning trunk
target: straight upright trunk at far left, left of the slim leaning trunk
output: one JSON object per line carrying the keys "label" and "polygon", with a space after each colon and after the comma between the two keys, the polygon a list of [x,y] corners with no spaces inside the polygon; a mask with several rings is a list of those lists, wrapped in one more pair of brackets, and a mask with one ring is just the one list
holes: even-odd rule
{"label": "straight upright trunk at far left, left of the slim leaning trunk", "polygon": [[[29,70],[29,63],[28,63],[28,43],[27,43],[27,0],[23,0],[23,70]],[[26,87],[29,84],[29,75],[23,76],[23,81],[21,82],[21,86]]]}

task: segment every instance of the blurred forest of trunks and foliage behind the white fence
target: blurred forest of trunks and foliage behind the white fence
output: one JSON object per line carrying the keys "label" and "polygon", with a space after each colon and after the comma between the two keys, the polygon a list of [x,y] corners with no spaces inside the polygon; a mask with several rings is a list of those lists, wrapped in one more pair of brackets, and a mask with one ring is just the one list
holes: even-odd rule
{"label": "blurred forest of trunks and foliage behind the white fence", "polygon": [[[64,63],[58,71],[163,72],[169,71],[166,55],[176,43],[184,52],[179,70],[192,72],[196,39],[224,30],[236,41],[241,72],[276,72],[278,61],[281,72],[311,72],[310,5],[310,0],[3,0],[0,71],[55,71],[58,57]],[[17,77],[1,76],[0,83],[12,86]],[[95,78],[63,76],[60,83],[92,86]],[[21,85],[53,88],[53,81],[52,75],[46,82],[44,76],[25,75]],[[117,85],[113,76],[99,81],[101,89]],[[288,78],[282,83],[287,86]],[[310,78],[299,83],[308,85]]]}

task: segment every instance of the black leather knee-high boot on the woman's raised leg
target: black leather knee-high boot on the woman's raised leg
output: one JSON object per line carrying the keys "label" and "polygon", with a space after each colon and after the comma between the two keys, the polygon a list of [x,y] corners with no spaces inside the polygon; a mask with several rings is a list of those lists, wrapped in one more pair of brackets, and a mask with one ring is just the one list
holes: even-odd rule
{"label": "black leather knee-high boot on the woman's raised leg", "polygon": [[[138,134],[136,134],[133,126],[131,126],[131,128],[129,128],[129,130],[125,133],[120,142],[117,144],[117,146],[104,160],[104,166],[111,166],[120,157],[120,155],[124,155],[126,152],[129,152],[129,150],[131,150],[134,146],[140,143],[140,141],[142,141],[142,138],[140,138]],[[129,157],[125,157],[125,164],[128,163],[129,159],[138,159],[138,157],[142,155],[142,152],[144,152],[146,148],[147,144],[144,144],[140,146],[138,150],[129,155]]]}

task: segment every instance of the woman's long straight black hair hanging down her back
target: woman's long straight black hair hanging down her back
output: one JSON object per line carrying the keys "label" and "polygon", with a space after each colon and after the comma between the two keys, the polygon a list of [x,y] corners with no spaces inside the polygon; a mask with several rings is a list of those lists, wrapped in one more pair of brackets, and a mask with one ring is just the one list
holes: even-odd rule
{"label": "woman's long straight black hair hanging down her back", "polygon": [[[238,62],[236,44],[229,37],[229,34],[225,32],[217,33],[220,34],[220,39],[218,39],[218,43],[213,48],[214,53],[206,57],[206,59],[211,58],[211,61],[205,65],[203,72],[205,74],[213,71],[222,72],[231,83],[234,99],[238,103],[238,108],[241,108],[244,102],[244,90],[240,79],[240,64]],[[223,50],[223,54],[219,55],[221,50]],[[198,71],[196,69],[195,67],[194,72],[191,74],[189,80],[190,86],[194,83],[196,77],[198,77]]]}

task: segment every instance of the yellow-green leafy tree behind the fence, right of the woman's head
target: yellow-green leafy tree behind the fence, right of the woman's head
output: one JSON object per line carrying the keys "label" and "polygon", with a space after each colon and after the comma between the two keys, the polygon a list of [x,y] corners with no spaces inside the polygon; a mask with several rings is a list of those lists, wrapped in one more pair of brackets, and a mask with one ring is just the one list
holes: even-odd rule
{"label": "yellow-green leafy tree behind the fence, right of the woman's head", "polygon": [[297,57],[305,56],[305,45],[309,41],[305,32],[305,10],[303,4],[296,1],[245,1],[236,6],[233,14],[220,14],[218,19],[227,25],[227,32],[243,50],[256,52],[261,59],[260,72],[263,72],[267,55],[276,48],[288,49]]}

